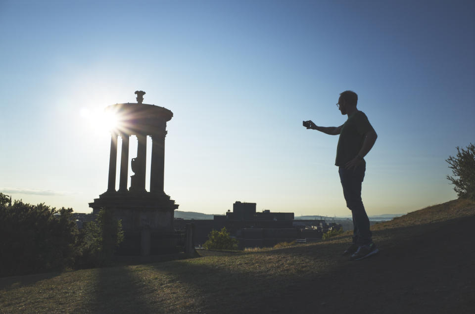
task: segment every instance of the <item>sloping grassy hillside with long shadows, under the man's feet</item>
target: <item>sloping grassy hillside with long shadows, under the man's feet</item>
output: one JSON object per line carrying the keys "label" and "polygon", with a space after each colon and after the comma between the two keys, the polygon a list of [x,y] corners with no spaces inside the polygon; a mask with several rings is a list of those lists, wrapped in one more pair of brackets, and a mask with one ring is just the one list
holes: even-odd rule
{"label": "sloping grassy hillside with long shadows, under the man's feet", "polygon": [[0,278],[0,312],[473,313],[475,202],[376,224],[379,255],[349,262],[344,234],[252,252]]}

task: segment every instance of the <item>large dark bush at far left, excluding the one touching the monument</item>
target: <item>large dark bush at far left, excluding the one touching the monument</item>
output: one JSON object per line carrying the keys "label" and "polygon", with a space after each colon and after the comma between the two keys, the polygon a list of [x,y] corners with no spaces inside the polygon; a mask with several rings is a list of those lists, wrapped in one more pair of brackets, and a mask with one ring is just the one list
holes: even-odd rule
{"label": "large dark bush at far left, excluding the one touching the monument", "polygon": [[73,210],[21,201],[9,206],[5,196],[0,193],[0,276],[73,267],[78,252]]}

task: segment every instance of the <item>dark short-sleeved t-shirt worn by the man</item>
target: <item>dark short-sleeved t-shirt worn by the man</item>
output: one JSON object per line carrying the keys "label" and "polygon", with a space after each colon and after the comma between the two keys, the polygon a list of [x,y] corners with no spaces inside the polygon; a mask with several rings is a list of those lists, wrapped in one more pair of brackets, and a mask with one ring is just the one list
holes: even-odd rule
{"label": "dark short-sleeved t-shirt worn by the man", "polygon": [[349,116],[341,128],[338,138],[335,165],[344,166],[355,158],[363,146],[366,133],[371,130],[374,129],[363,111],[356,111]]}

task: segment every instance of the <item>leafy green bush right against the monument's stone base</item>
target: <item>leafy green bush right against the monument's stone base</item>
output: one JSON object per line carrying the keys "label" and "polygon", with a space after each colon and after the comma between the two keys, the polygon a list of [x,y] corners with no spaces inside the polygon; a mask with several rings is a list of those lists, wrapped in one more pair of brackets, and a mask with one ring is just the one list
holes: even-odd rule
{"label": "leafy green bush right against the monument's stone base", "polygon": [[109,210],[101,209],[95,221],[85,224],[81,232],[77,268],[101,267],[110,263],[117,246],[124,240],[122,223]]}

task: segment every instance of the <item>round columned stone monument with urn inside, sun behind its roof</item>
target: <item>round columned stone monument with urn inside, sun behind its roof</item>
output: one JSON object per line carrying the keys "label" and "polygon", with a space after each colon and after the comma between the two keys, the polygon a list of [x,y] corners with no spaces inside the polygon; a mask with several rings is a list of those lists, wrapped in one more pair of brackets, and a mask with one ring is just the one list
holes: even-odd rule
{"label": "round columned stone monument with urn inside, sun behind its roof", "polygon": [[[122,220],[125,239],[119,255],[157,255],[177,251],[178,238],[173,228],[174,200],[163,190],[166,125],[173,113],[155,105],[142,103],[144,91],[138,90],[137,103],[118,103],[106,107],[115,113],[118,124],[111,130],[109,181],[107,191],[89,203],[96,214],[101,208]],[[129,138],[137,136],[137,156],[131,160],[134,173],[128,183]],[[117,144],[122,138],[119,189],[116,191]],[[147,136],[152,139],[150,188],[145,189]]]}

